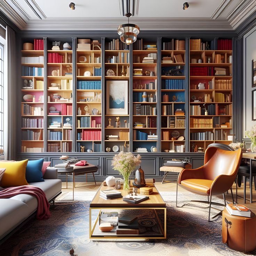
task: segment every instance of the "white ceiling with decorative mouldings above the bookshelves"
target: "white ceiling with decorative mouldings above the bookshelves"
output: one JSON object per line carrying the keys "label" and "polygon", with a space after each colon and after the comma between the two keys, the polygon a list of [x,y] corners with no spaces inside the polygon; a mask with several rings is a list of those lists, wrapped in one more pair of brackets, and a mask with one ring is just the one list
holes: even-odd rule
{"label": "white ceiling with decorative mouldings above the bookshelves", "polygon": [[[256,10],[256,0],[186,0],[183,10],[184,1],[130,0],[130,22],[143,30],[234,30]],[[126,7],[126,0],[0,0],[21,30],[116,30]]]}

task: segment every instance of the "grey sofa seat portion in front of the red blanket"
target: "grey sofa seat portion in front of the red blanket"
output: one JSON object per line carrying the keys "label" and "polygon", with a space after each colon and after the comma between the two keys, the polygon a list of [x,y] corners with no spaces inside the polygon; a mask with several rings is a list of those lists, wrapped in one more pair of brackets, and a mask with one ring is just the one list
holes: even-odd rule
{"label": "grey sofa seat portion in front of the red blanket", "polygon": [[0,239],[22,223],[33,212],[24,202],[0,199]]}

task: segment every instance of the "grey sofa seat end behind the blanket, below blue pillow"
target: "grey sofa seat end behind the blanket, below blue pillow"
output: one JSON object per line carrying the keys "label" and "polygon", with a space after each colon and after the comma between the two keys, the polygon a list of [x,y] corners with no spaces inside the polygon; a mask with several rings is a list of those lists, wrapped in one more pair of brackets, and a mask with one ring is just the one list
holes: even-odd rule
{"label": "grey sofa seat end behind the blanket, below blue pillow", "polygon": [[45,179],[45,182],[31,182],[30,185],[40,187],[48,200],[52,199],[57,193],[61,191],[61,180],[60,179]]}

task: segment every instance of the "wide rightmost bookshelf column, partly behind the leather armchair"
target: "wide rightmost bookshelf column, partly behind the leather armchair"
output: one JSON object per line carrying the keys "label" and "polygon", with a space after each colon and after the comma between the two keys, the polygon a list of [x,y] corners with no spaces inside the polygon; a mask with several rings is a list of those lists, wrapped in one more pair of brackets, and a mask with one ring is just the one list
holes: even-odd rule
{"label": "wide rightmost bookshelf column, partly behind the leather armchair", "polygon": [[[200,47],[199,40],[190,42]],[[190,151],[232,143],[232,50],[190,49],[190,75]]]}

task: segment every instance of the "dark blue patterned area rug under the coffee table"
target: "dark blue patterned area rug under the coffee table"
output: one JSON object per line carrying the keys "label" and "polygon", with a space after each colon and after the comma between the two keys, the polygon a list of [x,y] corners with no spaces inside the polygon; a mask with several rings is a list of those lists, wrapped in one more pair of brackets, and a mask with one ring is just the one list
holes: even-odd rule
{"label": "dark blue patterned area rug under the coffee table", "polygon": [[[167,239],[149,241],[93,241],[89,237],[90,192],[62,194],[51,206],[47,220],[31,220],[1,245],[0,255],[12,256],[67,256],[71,247],[78,256],[218,256],[245,255],[223,245],[222,217],[208,222],[208,208],[198,203],[175,207],[175,193],[162,193],[167,202]],[[193,195],[194,197],[194,195]],[[179,200],[190,200],[191,194],[179,193]],[[195,198],[193,198],[195,199]],[[197,200],[205,199],[197,196]],[[215,201],[221,202],[218,198]],[[180,203],[182,204],[182,203]],[[200,206],[200,207],[199,207]],[[217,211],[213,209],[212,215]],[[161,214],[160,214],[161,217]],[[247,255],[256,255],[256,251]]]}

